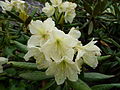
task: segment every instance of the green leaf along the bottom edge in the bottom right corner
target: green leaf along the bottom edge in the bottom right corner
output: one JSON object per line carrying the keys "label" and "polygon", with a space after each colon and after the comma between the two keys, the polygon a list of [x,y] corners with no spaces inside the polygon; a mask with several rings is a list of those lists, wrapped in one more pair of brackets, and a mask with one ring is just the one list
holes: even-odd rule
{"label": "green leaf along the bottom edge in the bottom right corner", "polygon": [[92,90],[110,90],[113,87],[120,88],[120,84],[101,84],[101,85],[95,85],[92,87]]}

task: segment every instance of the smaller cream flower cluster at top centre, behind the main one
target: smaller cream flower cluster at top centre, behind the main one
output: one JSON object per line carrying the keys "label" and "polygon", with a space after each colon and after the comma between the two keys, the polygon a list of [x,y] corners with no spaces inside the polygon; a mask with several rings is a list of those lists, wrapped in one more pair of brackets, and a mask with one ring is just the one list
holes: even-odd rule
{"label": "smaller cream flower cluster at top centre, behind the main one", "polygon": [[76,16],[75,8],[77,7],[75,3],[68,2],[68,1],[62,2],[62,0],[50,0],[50,2],[52,3],[52,5],[50,5],[47,2],[45,3],[45,7],[42,9],[42,11],[48,17],[51,17],[54,14],[56,14],[55,16],[57,16],[57,14],[58,16],[60,16],[61,14],[64,14],[64,19],[66,23],[73,22],[73,19]]}

